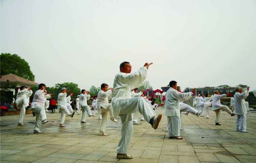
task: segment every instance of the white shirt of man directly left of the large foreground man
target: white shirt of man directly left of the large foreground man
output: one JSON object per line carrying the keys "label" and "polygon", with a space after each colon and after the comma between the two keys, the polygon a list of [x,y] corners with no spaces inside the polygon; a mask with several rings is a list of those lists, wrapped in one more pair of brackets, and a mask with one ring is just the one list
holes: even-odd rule
{"label": "white shirt of man directly left of the large foreground man", "polygon": [[106,104],[108,104],[108,100],[111,99],[111,97],[112,91],[110,89],[106,92],[100,90],[97,96],[97,109],[100,109],[100,107],[106,109],[108,107]]}

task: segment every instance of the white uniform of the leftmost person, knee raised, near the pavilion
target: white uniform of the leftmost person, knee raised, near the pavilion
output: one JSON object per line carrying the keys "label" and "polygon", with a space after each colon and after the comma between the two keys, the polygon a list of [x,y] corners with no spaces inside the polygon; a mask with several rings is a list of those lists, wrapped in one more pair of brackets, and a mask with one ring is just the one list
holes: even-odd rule
{"label": "white uniform of the leftmost person, knee raised, near the pavilion", "polygon": [[29,106],[28,97],[31,96],[32,93],[33,91],[28,90],[28,88],[23,89],[17,93],[15,103],[17,105],[17,108],[20,109],[20,117],[19,117],[18,123],[23,123],[25,113],[26,113],[26,108]]}

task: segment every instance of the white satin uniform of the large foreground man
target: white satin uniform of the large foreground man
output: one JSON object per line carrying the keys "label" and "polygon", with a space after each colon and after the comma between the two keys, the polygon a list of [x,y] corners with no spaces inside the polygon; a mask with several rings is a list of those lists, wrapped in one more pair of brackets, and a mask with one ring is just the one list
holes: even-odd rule
{"label": "white satin uniform of the large foreground man", "polygon": [[112,95],[112,107],[114,117],[120,116],[122,121],[121,139],[117,153],[126,154],[133,130],[132,113],[139,111],[147,122],[156,116],[154,110],[143,97],[132,97],[131,89],[138,88],[147,77],[147,68],[142,67],[133,73],[119,72],[114,79],[114,91]]}

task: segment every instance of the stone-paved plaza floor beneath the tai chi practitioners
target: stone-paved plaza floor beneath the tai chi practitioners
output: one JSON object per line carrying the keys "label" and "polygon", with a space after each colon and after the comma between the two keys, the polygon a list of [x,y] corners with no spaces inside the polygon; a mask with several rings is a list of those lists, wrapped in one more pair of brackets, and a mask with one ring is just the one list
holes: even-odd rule
{"label": "stone-paved plaza floor beneath the tai chi practitioners", "polygon": [[[163,113],[159,108],[156,113]],[[100,120],[81,115],[66,117],[66,127],[60,128],[59,112],[46,113],[48,123],[41,125],[41,134],[33,134],[35,117],[25,116],[25,126],[17,126],[18,115],[1,117],[1,163],[197,163],[197,162],[256,162],[256,114],[247,115],[249,133],[235,131],[236,116],[221,112],[221,126],[215,126],[215,112],[210,119],[192,114],[182,116],[183,140],[169,139],[167,118],[162,117],[154,130],[145,121],[133,127],[128,154],[131,160],[116,159],[121,134],[121,120],[108,121],[108,136],[98,136]]]}

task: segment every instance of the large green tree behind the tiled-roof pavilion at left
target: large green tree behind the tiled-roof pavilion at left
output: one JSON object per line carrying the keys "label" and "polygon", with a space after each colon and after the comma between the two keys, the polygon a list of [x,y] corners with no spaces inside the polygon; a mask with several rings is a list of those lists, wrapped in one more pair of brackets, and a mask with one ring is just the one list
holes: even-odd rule
{"label": "large green tree behind the tiled-roof pavilion at left", "polygon": [[1,53],[0,73],[2,75],[14,74],[22,78],[34,81],[35,75],[30,70],[30,66],[25,59],[17,54]]}

